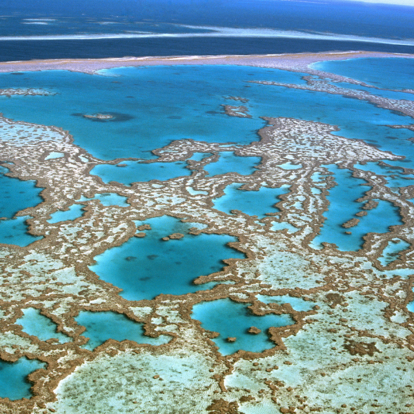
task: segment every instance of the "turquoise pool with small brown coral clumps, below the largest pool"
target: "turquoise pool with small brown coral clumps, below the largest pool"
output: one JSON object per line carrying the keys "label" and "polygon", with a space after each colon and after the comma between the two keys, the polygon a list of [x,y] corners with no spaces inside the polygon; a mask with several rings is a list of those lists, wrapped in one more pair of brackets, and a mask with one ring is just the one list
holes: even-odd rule
{"label": "turquoise pool with small brown coral clumps, below the largest pool", "polygon": [[[219,299],[212,302],[201,302],[193,306],[193,319],[201,322],[201,326],[220,335],[213,338],[222,355],[230,355],[239,350],[263,352],[273,348],[267,330],[270,326],[292,325],[290,315],[254,315],[248,309],[250,304],[233,302],[231,299]],[[251,326],[262,332],[254,335],[248,333]],[[236,337],[235,342],[228,342],[228,337]]]}

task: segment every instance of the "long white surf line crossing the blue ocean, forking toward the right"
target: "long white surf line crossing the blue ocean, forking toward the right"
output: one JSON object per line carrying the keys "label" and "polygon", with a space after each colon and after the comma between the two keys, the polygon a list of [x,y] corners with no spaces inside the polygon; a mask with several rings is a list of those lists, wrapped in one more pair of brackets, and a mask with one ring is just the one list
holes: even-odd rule
{"label": "long white surf line crossing the blue ocean, forking toward the right", "polygon": [[[177,25],[179,26],[179,25]],[[97,34],[53,34],[34,36],[1,36],[0,41],[39,41],[39,40],[93,40],[93,39],[166,39],[166,38],[189,38],[189,37],[256,37],[267,39],[310,39],[328,41],[355,41],[364,43],[381,43],[399,46],[414,46],[414,39],[384,39],[380,37],[362,37],[348,34],[336,33],[308,33],[295,30],[275,29],[244,29],[224,28],[217,26],[179,26],[182,28],[206,30],[205,32],[187,33],[97,33]]]}

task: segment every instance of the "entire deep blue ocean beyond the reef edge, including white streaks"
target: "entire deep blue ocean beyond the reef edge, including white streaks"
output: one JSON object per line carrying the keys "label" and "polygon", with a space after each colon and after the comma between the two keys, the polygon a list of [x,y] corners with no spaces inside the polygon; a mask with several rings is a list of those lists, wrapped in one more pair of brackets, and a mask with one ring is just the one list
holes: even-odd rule
{"label": "entire deep blue ocean beyond the reef edge, including white streaks", "polygon": [[[17,7],[15,1],[1,1],[0,61],[331,50],[414,52],[414,8],[408,6],[319,0],[22,3]],[[244,33],[231,32],[235,28]]]}

